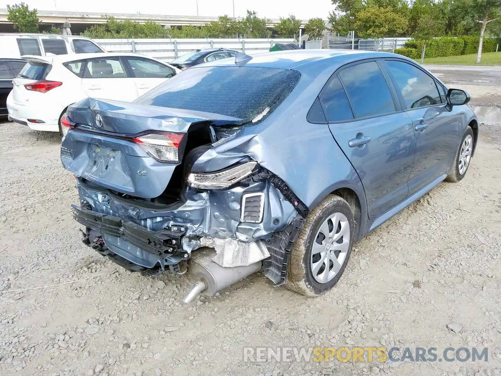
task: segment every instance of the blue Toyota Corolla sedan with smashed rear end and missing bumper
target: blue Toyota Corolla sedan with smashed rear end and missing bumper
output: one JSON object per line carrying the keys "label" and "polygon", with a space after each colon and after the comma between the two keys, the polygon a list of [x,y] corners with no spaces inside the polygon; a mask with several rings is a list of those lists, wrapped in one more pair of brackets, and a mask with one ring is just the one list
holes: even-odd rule
{"label": "blue Toyota Corolla sedan with smashed rear end and missing bumper", "polygon": [[84,243],[133,271],[188,271],[185,301],[262,267],[315,296],[354,241],[462,179],[478,137],[468,100],[394,54],[237,54],[134,103],[70,106],[61,160]]}

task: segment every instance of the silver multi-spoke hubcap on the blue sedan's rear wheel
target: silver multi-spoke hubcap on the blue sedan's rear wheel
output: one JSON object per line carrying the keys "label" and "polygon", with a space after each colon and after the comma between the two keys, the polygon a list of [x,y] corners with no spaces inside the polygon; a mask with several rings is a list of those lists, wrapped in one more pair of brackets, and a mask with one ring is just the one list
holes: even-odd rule
{"label": "silver multi-spoke hubcap on the blue sedan's rear wheel", "polygon": [[327,283],[341,270],[350,246],[350,224],[342,213],[335,213],[322,223],[313,241],[310,268],[313,278]]}

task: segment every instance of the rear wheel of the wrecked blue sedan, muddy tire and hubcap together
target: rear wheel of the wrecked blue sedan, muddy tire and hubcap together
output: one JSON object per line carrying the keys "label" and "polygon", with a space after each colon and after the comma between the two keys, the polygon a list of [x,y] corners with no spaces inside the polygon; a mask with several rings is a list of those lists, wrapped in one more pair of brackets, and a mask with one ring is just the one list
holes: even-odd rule
{"label": "rear wheel of the wrecked blue sedan, muddy tire and hubcap together", "polygon": [[343,274],[354,236],[353,213],[329,195],[308,215],[291,252],[286,287],[307,296],[331,289]]}

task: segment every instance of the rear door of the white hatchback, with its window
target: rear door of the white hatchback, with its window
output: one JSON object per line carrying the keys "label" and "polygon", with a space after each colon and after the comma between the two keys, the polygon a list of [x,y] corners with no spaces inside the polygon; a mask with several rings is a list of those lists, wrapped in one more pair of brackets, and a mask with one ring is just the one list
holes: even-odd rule
{"label": "rear door of the white hatchback, with its window", "polygon": [[138,97],[134,80],[119,57],[89,59],[82,87],[91,98],[131,102]]}

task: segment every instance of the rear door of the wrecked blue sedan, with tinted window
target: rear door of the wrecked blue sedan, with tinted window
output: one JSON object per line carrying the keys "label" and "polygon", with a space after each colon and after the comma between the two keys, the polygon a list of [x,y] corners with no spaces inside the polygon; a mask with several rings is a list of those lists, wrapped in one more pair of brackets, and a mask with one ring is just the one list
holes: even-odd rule
{"label": "rear door of the wrecked blue sedan, with tinted window", "polygon": [[[364,186],[370,219],[408,195],[414,130],[377,61],[342,68],[319,95],[329,128]],[[400,112],[399,112],[400,111]]]}

